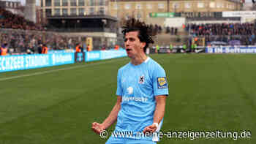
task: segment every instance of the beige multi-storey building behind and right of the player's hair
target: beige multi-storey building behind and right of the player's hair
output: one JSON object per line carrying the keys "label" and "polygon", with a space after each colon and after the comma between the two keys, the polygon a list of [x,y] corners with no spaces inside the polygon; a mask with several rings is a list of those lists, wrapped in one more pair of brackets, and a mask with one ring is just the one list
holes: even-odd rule
{"label": "beige multi-storey building behind and right of the player's hair", "polygon": [[[124,19],[133,16],[148,24],[165,26],[168,18],[221,18],[223,11],[241,10],[241,7],[242,3],[236,0],[111,0],[110,15]],[[177,20],[172,24],[176,23]]]}

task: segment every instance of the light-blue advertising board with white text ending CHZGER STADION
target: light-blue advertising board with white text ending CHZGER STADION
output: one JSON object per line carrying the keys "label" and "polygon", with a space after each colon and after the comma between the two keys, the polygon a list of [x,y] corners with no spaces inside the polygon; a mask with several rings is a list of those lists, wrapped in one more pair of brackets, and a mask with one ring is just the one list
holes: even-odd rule
{"label": "light-blue advertising board with white text ending CHZGER STADION", "polygon": [[0,56],[0,72],[52,67],[61,64],[73,64],[74,62],[73,53]]}

